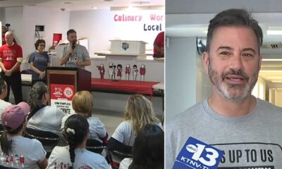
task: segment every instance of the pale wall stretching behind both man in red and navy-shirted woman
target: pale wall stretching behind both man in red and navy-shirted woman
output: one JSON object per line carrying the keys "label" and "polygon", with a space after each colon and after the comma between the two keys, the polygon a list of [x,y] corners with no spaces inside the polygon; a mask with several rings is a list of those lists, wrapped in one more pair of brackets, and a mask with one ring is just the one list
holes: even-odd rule
{"label": "pale wall stretching behind both man in red and navy-shirted woman", "polygon": [[27,56],[35,50],[35,25],[45,25],[44,39],[47,44],[46,50],[48,50],[52,44],[54,33],[62,33],[63,38],[66,38],[69,16],[69,12],[34,6],[4,8],[4,17],[2,18],[5,23],[11,24],[10,28],[14,32],[16,41],[23,48],[21,70],[30,67],[27,63]]}

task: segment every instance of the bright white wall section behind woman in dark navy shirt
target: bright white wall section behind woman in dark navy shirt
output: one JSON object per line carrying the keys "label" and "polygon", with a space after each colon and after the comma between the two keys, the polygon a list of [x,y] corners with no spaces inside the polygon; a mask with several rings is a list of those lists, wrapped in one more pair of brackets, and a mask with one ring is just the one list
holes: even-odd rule
{"label": "bright white wall section behind woman in dark navy shirt", "polygon": [[[35,51],[35,25],[44,25],[44,37],[46,41],[46,49],[52,45],[53,34],[61,33],[63,39],[66,39],[66,32],[68,31],[68,23],[70,20],[70,13],[68,11],[54,11],[47,8],[38,8],[34,6],[23,7],[23,40],[20,44],[23,47],[23,59],[27,60],[27,56]],[[22,70],[29,68],[28,63],[22,65]]]}

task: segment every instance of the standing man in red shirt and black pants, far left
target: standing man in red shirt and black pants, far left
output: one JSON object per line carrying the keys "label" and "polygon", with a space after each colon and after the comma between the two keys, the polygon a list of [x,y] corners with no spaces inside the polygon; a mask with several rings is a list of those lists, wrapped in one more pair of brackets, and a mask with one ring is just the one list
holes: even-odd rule
{"label": "standing man in red shirt and black pants, far left", "polygon": [[13,42],[13,32],[5,34],[6,44],[0,47],[1,78],[7,83],[8,94],[5,101],[9,101],[10,86],[13,91],[16,104],[23,101],[22,78],[20,75],[20,64],[23,62],[22,48]]}

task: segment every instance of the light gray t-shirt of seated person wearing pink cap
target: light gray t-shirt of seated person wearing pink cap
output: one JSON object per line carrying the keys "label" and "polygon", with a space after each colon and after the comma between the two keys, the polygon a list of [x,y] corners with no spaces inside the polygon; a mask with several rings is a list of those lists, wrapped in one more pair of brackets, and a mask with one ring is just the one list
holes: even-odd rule
{"label": "light gray t-shirt of seated person wearing pink cap", "polygon": [[0,147],[0,165],[8,168],[37,169],[37,162],[44,161],[46,151],[37,139],[12,137],[12,149],[4,154]]}

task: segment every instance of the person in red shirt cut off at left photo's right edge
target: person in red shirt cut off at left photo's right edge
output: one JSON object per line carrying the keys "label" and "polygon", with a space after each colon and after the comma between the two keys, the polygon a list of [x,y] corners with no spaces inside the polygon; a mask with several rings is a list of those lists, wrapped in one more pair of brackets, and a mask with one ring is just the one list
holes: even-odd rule
{"label": "person in red shirt cut off at left photo's right edge", "polygon": [[164,31],[154,39],[154,58],[164,58]]}

